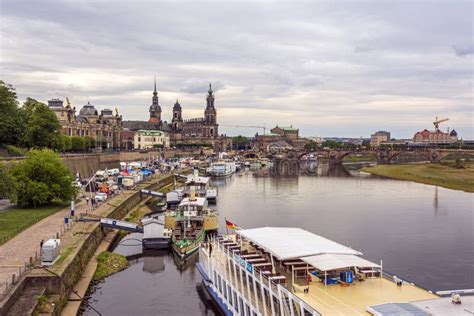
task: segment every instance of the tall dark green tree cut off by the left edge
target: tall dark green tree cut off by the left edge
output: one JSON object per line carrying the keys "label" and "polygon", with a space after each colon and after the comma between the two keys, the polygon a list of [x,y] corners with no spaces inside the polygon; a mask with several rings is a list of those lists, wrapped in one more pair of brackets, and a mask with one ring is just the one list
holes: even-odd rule
{"label": "tall dark green tree cut off by the left edge", "polygon": [[15,89],[0,80],[0,146],[17,145],[24,121]]}

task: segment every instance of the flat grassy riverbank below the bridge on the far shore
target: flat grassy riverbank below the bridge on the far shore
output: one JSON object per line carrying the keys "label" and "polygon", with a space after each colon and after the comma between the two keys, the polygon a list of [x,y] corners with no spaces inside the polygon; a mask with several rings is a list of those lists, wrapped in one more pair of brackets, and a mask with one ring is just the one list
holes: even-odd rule
{"label": "flat grassy riverbank below the bridge on the far shore", "polygon": [[472,164],[462,169],[441,164],[377,165],[362,168],[362,171],[393,179],[474,192],[474,166]]}

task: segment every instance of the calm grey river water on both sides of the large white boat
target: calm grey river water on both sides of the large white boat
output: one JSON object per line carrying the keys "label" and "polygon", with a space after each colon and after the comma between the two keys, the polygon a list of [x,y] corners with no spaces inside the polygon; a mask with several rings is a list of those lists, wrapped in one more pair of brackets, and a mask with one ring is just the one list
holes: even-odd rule
{"label": "calm grey river water on both sides of the large white boat", "polygon": [[[287,178],[247,170],[214,183],[223,230],[225,218],[243,228],[297,226],[383,259],[384,270],[425,288],[474,288],[474,194],[342,166]],[[136,236],[128,238],[116,251],[139,254]],[[213,315],[195,259],[178,267],[171,254],[132,256],[89,304],[103,315]]]}

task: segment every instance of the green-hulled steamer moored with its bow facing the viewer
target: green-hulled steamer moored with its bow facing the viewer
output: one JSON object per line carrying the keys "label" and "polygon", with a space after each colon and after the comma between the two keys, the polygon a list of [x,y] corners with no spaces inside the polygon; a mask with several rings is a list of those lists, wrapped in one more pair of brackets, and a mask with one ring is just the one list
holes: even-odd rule
{"label": "green-hulled steamer moored with its bow facing the viewer", "polygon": [[172,230],[171,247],[180,259],[194,253],[209,232],[219,227],[217,212],[208,208],[204,197],[193,190],[184,198],[177,210],[167,211],[165,228]]}

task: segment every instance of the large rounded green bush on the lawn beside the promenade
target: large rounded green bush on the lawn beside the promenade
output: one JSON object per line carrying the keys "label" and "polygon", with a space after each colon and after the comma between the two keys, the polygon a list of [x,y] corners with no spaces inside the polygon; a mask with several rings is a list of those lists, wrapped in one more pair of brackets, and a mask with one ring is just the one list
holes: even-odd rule
{"label": "large rounded green bush on the lawn beside the promenade", "polygon": [[59,155],[51,150],[31,150],[28,158],[11,169],[16,182],[18,204],[37,207],[55,199],[68,201],[74,197],[73,175]]}

